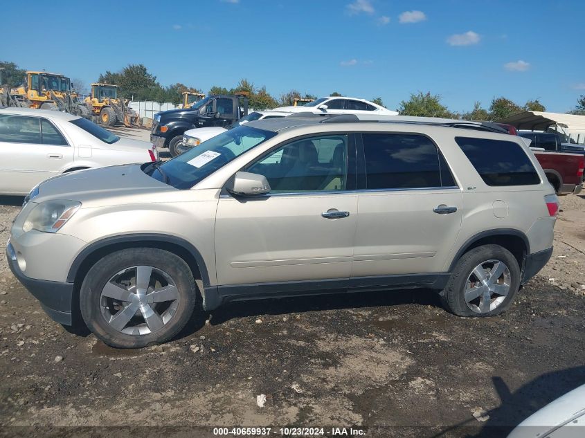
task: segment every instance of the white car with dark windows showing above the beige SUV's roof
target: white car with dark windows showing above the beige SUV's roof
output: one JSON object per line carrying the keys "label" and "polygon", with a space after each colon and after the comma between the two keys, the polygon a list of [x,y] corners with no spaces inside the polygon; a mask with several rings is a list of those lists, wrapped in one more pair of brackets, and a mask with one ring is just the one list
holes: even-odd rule
{"label": "white car with dark windows showing above the beige SUV's roof", "polygon": [[315,114],[369,114],[371,116],[397,116],[397,111],[386,109],[379,104],[365,99],[345,96],[329,96],[308,102],[297,107],[279,107],[273,111],[292,113],[311,112]]}

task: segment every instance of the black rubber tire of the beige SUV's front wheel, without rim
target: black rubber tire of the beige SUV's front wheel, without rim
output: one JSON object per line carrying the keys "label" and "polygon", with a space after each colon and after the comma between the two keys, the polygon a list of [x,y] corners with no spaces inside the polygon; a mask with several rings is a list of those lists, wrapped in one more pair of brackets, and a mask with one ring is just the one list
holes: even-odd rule
{"label": "black rubber tire of the beige SUV's front wheel, without rim", "polygon": [[[138,270],[132,271],[133,266],[152,267],[154,268],[152,273],[160,270],[167,274],[176,286],[177,304],[174,306],[170,319],[168,322],[164,322],[160,328],[147,334],[136,333],[140,327],[150,330],[150,325],[141,316],[143,314],[141,313],[141,308],[137,309],[135,314],[133,313],[132,319],[122,329],[112,327],[110,325],[111,319],[110,321],[106,319],[111,315],[117,316],[118,313],[116,313],[116,309],[114,309],[114,313],[109,313],[111,309],[106,305],[110,306],[111,302],[116,301],[103,297],[102,290],[106,284],[116,275],[120,275],[120,272],[125,269],[128,269],[129,275],[132,275],[132,272],[136,272],[136,275],[138,275]],[[156,284],[153,282],[152,274],[149,274],[148,282],[150,286],[147,291]],[[132,286],[131,281],[125,286],[127,289],[124,291],[125,293],[132,290],[136,291],[136,286]],[[134,295],[138,294],[134,293]],[[192,315],[193,309],[195,309],[196,296],[197,289],[192,272],[181,257],[156,248],[127,248],[103,257],[89,269],[80,290],[80,310],[87,327],[107,345],[117,348],[139,348],[163,343],[176,336],[185,327]],[[133,298],[136,298],[136,296]],[[160,302],[160,304],[165,305],[163,302]],[[153,304],[146,305],[150,306],[151,310],[154,309],[156,313],[156,306],[159,303],[154,303],[154,307]],[[129,306],[130,304],[127,307]],[[124,309],[125,307],[124,304],[118,304],[119,309]],[[117,310],[117,312],[120,312],[120,310]],[[141,318],[143,321],[142,326],[140,326]],[[136,334],[123,333],[121,330],[134,331]]]}

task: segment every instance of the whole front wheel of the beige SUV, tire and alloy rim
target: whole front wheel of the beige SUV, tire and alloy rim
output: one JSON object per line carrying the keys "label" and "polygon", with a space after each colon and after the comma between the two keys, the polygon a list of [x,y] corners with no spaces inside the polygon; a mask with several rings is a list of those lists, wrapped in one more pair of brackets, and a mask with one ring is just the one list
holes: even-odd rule
{"label": "whole front wheel of the beige SUV, tire and alloy rim", "polygon": [[195,297],[195,280],[181,257],[156,248],[129,248],[91,267],[81,286],[80,309],[87,327],[104,343],[138,348],[177,335],[195,309]]}

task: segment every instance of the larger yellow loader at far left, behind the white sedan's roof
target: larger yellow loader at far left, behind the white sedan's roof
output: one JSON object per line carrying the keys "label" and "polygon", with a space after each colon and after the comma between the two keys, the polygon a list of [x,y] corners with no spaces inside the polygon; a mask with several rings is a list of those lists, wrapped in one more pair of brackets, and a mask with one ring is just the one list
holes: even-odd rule
{"label": "larger yellow loader at far left, behind the white sedan's roof", "polygon": [[53,109],[89,116],[89,110],[77,101],[69,77],[46,71],[27,71],[24,84],[10,91],[21,107]]}

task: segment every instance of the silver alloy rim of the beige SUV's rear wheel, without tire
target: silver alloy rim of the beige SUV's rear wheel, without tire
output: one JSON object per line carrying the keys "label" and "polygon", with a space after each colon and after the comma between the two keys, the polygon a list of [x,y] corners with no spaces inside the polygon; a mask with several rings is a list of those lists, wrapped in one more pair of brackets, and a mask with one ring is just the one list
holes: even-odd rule
{"label": "silver alloy rim of the beige SUV's rear wheel, without tire", "polygon": [[486,260],[465,282],[465,304],[476,313],[496,309],[510,293],[510,269],[500,260]]}

